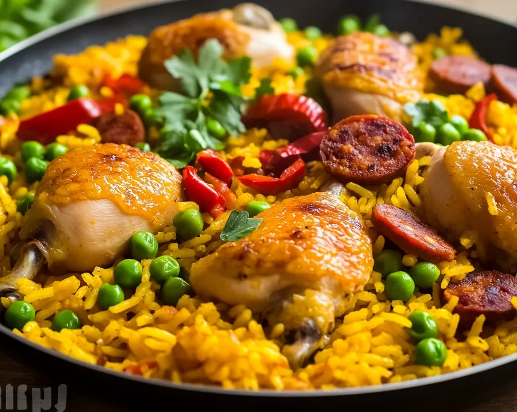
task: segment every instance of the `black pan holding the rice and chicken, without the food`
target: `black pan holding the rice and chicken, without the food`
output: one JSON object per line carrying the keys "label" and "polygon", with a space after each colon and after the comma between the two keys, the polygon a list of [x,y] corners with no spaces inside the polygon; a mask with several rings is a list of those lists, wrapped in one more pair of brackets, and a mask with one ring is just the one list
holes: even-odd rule
{"label": "black pan holding the rice and chicken, without the food", "polygon": [[[317,25],[327,32],[334,32],[337,21],[343,14],[358,14],[362,19],[373,13],[381,14],[382,21],[397,32],[409,31],[423,39],[429,33],[437,33],[445,25],[461,26],[465,37],[473,43],[481,56],[492,63],[517,67],[517,27],[470,14],[453,8],[433,6],[406,0],[257,0],[277,18],[293,17],[301,27]],[[128,34],[147,35],[158,25],[192,16],[197,12],[233,7],[236,0],[191,0],[166,2],[153,6],[134,8],[123,12],[107,14],[94,19],[65,23],[47,30],[32,39],[23,41],[0,53],[0,95],[13,83],[26,81],[35,75],[42,75],[52,66],[52,56],[56,53],[77,53],[92,44],[103,44]],[[98,393],[102,388],[124,387],[121,398],[129,398],[136,403],[149,399],[170,399],[171,396],[190,396],[196,402],[216,398],[227,402],[229,396],[238,399],[238,404],[257,405],[274,397],[277,405],[287,403],[308,406],[341,400],[342,405],[367,404],[389,407],[393,400],[404,399],[406,410],[424,410],[439,402],[442,410],[450,410],[452,404],[444,405],[445,399],[457,399],[456,395],[467,396],[458,402],[476,399],[476,393],[492,391],[494,387],[504,387],[511,383],[517,354],[484,363],[463,371],[442,376],[411,380],[405,383],[388,384],[378,387],[337,389],[333,391],[276,392],[276,391],[234,391],[217,387],[177,385],[163,380],[143,379],[112,372],[108,369],[79,362],[45,349],[14,335],[0,325],[1,346],[9,356],[23,358],[22,362],[36,362],[50,370],[49,376],[63,377],[60,382],[85,382],[89,388],[95,384]],[[50,367],[46,368],[47,366]],[[105,384],[105,385],[104,385]],[[132,390],[134,388],[134,390]],[[85,389],[86,390],[86,389]],[[453,396],[454,395],[454,396]],[[159,398],[155,398],[158,396]],[[452,398],[451,398],[452,396]],[[322,399],[325,398],[325,399]],[[346,399],[344,399],[346,398]],[[319,400],[318,400],[319,399]],[[420,399],[419,405],[407,405],[409,399]],[[422,402],[423,401],[423,402]],[[278,403],[280,402],[280,403]],[[397,408],[403,407],[398,404]],[[234,404],[235,405],[235,404]],[[176,405],[179,406],[179,405]],[[222,406],[222,405],[221,405]],[[226,404],[227,406],[227,404]]]}

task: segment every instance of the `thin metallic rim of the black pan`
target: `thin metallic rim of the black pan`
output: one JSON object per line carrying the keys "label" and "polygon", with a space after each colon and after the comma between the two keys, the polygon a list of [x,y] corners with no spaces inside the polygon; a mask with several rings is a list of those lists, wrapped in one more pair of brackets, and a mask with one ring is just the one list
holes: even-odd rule
{"label": "thin metallic rim of the black pan", "polygon": [[[0,53],[0,63],[4,62],[9,57],[16,55],[17,53],[31,47],[32,45],[35,45],[45,39],[51,38],[53,36],[63,34],[67,32],[68,30],[71,30],[73,28],[86,25],[98,20],[103,19],[109,19],[110,17],[118,16],[120,14],[124,13],[130,13],[138,10],[143,10],[147,8],[152,7],[158,7],[164,4],[172,4],[172,3],[180,3],[185,2],[186,0],[159,0],[157,2],[154,2],[152,4],[147,5],[135,5],[131,7],[124,7],[121,9],[115,9],[115,10],[108,10],[103,13],[95,14],[94,16],[86,17],[86,18],[79,18],[74,19],[69,22],[65,22],[62,24],[59,24],[57,26],[51,27],[47,30],[44,30],[41,33],[36,34],[35,36],[28,38],[26,40],[23,40],[9,49],[3,51]],[[203,1],[207,0],[197,0],[198,3],[201,3]],[[404,3],[420,3],[429,5],[433,8],[438,9],[451,9],[455,11],[459,11],[464,14],[470,14],[473,16],[481,17],[485,20],[492,21],[498,24],[503,24],[505,26],[514,28],[517,30],[517,23],[512,24],[508,21],[498,19],[492,16],[484,16],[480,12],[472,12],[467,9],[463,9],[458,6],[451,6],[451,5],[433,5],[425,0],[401,0]],[[70,356],[64,355],[60,352],[57,352],[57,350],[45,348],[35,342],[29,341],[28,339],[17,335],[12,332],[9,328],[7,328],[4,325],[0,325],[0,333],[5,335],[9,339],[13,339],[15,341],[18,341],[19,343],[23,345],[27,345],[29,347],[32,347],[33,349],[36,349],[38,352],[41,352],[45,355],[66,361],[70,364],[73,364],[78,367],[87,368],[90,371],[102,373],[105,375],[111,375],[119,379],[127,379],[131,380],[133,382],[142,383],[145,385],[151,385],[154,387],[161,387],[161,388],[169,388],[174,390],[182,390],[182,391],[188,391],[192,393],[212,393],[212,394],[225,394],[225,395],[232,395],[232,396],[259,396],[259,397],[267,397],[267,398],[318,398],[318,397],[331,397],[331,396],[355,396],[355,395],[364,395],[364,394],[370,394],[370,393],[383,393],[383,392],[393,392],[398,390],[404,390],[404,389],[410,389],[410,388],[417,388],[417,387],[423,387],[428,385],[434,385],[439,383],[448,382],[450,380],[460,379],[463,377],[467,377],[470,375],[475,375],[484,371],[488,371],[491,369],[495,369],[498,367],[501,367],[505,364],[514,362],[517,360],[517,353],[512,355],[507,355],[498,359],[491,360],[489,362],[485,362],[479,365],[474,365],[473,367],[450,372],[447,374],[442,375],[436,375],[432,377],[423,377],[423,378],[417,378],[408,380],[405,382],[399,382],[399,383],[387,383],[382,385],[375,385],[375,386],[363,386],[358,388],[336,388],[332,390],[321,390],[321,389],[311,389],[307,391],[295,391],[295,390],[272,390],[272,389],[261,389],[258,391],[252,391],[252,390],[244,390],[244,389],[224,389],[222,387],[217,386],[203,386],[203,385],[194,385],[194,384],[188,384],[188,383],[173,383],[169,380],[165,379],[157,379],[157,378],[144,378],[142,376],[137,375],[130,375],[124,372],[117,372],[105,367],[101,367],[100,365],[96,364],[90,364],[84,361],[80,361],[78,359],[72,358]]]}

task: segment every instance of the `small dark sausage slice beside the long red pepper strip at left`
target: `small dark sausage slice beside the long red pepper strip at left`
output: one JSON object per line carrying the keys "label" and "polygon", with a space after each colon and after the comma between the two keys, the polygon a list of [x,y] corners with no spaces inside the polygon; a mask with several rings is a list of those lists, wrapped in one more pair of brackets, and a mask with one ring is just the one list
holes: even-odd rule
{"label": "small dark sausage slice beside the long red pepper strip at left", "polygon": [[145,140],[145,128],[140,116],[132,110],[117,115],[109,112],[97,119],[97,130],[102,143],[127,144],[134,146]]}

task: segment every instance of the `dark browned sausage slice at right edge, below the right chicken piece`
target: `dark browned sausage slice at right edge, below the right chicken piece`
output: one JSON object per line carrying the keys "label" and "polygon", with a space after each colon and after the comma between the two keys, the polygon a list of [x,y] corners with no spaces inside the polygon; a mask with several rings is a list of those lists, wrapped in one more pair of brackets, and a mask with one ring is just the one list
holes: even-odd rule
{"label": "dark browned sausage slice at right edge, below the right chicken piece", "polygon": [[445,300],[458,296],[454,311],[462,321],[473,320],[480,314],[487,319],[503,319],[515,313],[511,298],[517,296],[517,279],[497,270],[469,273],[458,283],[449,283]]}

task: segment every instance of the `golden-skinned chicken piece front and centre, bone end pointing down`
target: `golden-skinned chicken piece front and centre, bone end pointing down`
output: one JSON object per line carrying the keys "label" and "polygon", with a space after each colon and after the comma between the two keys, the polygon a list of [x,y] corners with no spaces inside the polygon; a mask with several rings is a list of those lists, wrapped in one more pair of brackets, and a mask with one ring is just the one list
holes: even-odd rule
{"label": "golden-skinned chicken piece front and centre, bone end pointing down", "polygon": [[283,353],[299,367],[323,342],[372,268],[361,218],[326,192],[293,197],[257,215],[251,235],[229,242],[192,266],[203,297],[244,303],[264,324],[283,323]]}

